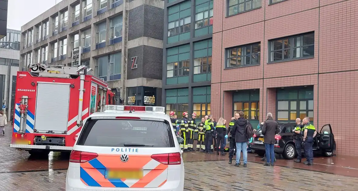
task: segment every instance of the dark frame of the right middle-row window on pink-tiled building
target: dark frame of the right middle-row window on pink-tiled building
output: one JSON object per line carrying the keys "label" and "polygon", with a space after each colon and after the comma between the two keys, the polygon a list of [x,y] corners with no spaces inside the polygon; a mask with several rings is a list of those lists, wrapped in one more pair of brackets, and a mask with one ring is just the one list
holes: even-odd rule
{"label": "dark frame of the right middle-row window on pink-tiled building", "polygon": [[[306,57],[303,57],[303,48],[306,48],[306,47],[310,47],[310,46],[313,46],[313,50],[315,48],[315,43],[313,42],[313,44],[303,44],[303,38],[304,36],[307,36],[307,35],[315,35],[315,32],[314,31],[311,31],[311,32],[308,32],[308,33],[302,33],[302,34],[297,34],[297,35],[292,35],[292,36],[285,36],[285,37],[281,37],[281,38],[276,38],[276,39],[271,39],[269,40],[269,43],[268,43],[268,62],[267,63],[277,63],[277,62],[286,62],[286,61],[291,61],[291,60],[300,60],[300,59],[308,59],[308,58],[314,58],[314,53],[313,52],[313,55],[310,55],[310,56],[306,56]],[[294,46],[294,39],[297,39],[297,38],[300,38],[300,43],[299,45],[297,46]],[[313,36],[313,39],[314,39],[314,36]],[[282,41],[282,48],[280,49],[275,49],[275,50],[272,50],[274,49],[273,46],[274,46],[274,43],[275,42],[279,42],[279,41]],[[287,45],[286,48],[285,48],[285,42],[287,42],[288,44],[290,45]],[[279,42],[278,44],[280,44],[281,42]],[[294,57],[294,50],[299,50],[300,51],[300,55],[299,57]],[[273,60],[274,59],[274,53],[277,52],[281,52],[281,60]],[[289,52],[289,57],[288,58],[285,58],[285,52]]]}

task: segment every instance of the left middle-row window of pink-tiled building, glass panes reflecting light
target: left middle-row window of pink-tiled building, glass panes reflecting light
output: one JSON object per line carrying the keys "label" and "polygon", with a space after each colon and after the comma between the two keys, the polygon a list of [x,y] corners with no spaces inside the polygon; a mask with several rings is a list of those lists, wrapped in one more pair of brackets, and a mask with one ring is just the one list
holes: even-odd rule
{"label": "left middle-row window of pink-tiled building, glass panes reflecting light", "polygon": [[259,65],[261,62],[261,43],[228,48],[226,54],[226,68]]}

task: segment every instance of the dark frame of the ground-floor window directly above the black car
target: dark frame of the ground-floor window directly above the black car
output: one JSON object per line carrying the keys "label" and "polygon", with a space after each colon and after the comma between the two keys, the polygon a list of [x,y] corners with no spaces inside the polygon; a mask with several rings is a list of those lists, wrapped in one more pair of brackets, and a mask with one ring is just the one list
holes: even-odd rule
{"label": "dark frame of the ground-floor window directly above the black car", "polygon": [[[313,90],[313,89],[312,89]],[[277,96],[277,91],[276,91],[276,119],[277,121],[284,121],[284,122],[294,122],[296,120],[296,118],[300,118],[300,112],[301,111],[305,111],[306,112],[306,117],[308,117],[308,112],[313,112],[313,117],[314,117],[314,109],[309,109],[309,101],[313,101],[314,104],[314,98],[313,99],[300,99],[299,98],[299,92],[300,89],[297,89],[297,99],[279,99]],[[288,109],[279,109],[279,102],[281,101],[288,101]],[[306,109],[300,109],[300,102],[301,101],[305,101],[306,102]],[[291,102],[296,102],[296,109],[291,109]],[[295,111],[296,112],[296,118],[295,119],[291,119],[291,111]],[[287,112],[288,113],[288,120],[279,120],[279,115],[278,112]],[[313,118],[310,117],[310,118]],[[303,119],[301,119],[302,121]],[[310,120],[311,122],[314,121]]]}

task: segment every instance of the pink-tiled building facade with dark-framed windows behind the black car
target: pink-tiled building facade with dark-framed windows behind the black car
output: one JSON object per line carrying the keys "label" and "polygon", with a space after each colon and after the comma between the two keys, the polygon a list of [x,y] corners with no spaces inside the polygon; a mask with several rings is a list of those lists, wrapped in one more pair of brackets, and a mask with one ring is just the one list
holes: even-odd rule
{"label": "pink-tiled building facade with dark-framed windows behind the black car", "polygon": [[214,0],[214,116],[308,116],[331,124],[339,154],[358,156],[357,14],[356,0]]}

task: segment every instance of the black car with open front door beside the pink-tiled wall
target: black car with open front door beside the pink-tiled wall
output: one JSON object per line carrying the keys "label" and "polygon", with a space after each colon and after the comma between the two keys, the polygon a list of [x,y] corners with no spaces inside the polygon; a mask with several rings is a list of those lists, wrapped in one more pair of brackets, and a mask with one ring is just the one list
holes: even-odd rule
{"label": "black car with open front door beside the pink-tiled wall", "polygon": [[[285,159],[292,159],[296,156],[296,149],[294,143],[294,129],[295,123],[279,123],[280,132],[275,135],[275,153],[282,155]],[[259,156],[265,155],[265,145],[263,144],[263,134],[261,129],[258,129],[253,135],[251,148],[255,150],[255,153]],[[336,149],[336,143],[330,124],[324,125],[317,136],[314,138],[313,152],[322,153],[324,156],[333,156],[333,152]],[[302,147],[302,151],[303,147]]]}

